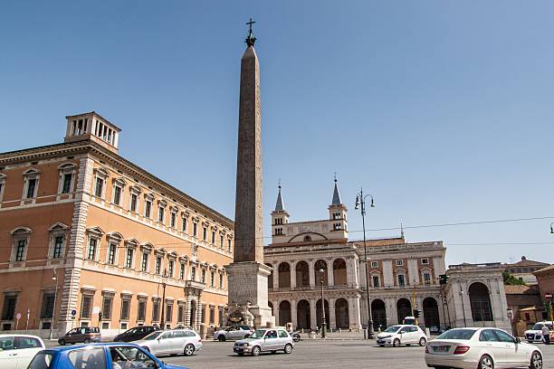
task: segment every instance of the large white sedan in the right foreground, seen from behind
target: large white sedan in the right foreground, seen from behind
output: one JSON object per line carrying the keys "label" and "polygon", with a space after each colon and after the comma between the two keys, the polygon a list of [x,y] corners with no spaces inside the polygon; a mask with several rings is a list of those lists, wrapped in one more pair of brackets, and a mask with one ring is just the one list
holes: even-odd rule
{"label": "large white sedan in the right foreground, seen from behind", "polygon": [[425,347],[430,367],[542,369],[542,353],[498,328],[454,328]]}

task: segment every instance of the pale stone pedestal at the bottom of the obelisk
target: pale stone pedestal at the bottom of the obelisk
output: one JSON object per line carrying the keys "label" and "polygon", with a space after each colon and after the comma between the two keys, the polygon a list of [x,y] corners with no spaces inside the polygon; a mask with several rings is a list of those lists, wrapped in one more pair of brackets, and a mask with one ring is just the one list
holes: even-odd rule
{"label": "pale stone pedestal at the bottom of the obelisk", "polygon": [[227,324],[275,326],[272,308],[267,304],[267,280],[272,268],[256,261],[241,261],[225,266],[225,270],[229,289]]}

